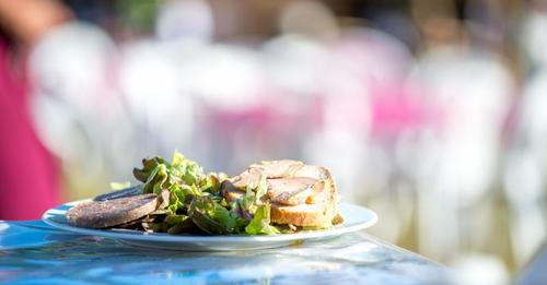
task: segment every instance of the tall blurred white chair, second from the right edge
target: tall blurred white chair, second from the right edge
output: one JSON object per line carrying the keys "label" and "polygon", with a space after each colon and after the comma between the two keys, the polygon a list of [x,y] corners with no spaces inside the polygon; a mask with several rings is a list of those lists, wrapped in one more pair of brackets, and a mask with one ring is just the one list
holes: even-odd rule
{"label": "tall blurred white chair, second from the right edge", "polygon": [[[492,55],[447,47],[422,56],[412,79],[444,111],[439,147],[426,150],[439,152],[438,167],[419,181],[420,249],[454,258],[464,237],[476,245],[487,236],[488,224],[478,224],[484,219],[464,221],[461,211],[492,187],[513,82]],[[478,230],[465,233],[468,224]]]}

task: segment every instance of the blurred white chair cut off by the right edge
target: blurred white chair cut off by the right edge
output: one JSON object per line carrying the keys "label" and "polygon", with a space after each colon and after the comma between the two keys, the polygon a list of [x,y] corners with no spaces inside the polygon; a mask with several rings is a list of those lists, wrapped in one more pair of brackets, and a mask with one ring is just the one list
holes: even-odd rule
{"label": "blurred white chair cut off by the right edge", "polygon": [[515,261],[525,262],[547,236],[547,70],[528,79],[515,138],[504,164],[503,182],[511,213],[511,242]]}

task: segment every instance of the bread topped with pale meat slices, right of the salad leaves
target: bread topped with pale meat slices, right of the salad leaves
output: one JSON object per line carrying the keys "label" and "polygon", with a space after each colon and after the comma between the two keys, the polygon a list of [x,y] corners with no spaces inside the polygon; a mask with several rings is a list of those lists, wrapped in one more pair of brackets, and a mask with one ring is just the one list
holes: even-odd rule
{"label": "bread topped with pale meat slices, right of the salad leaves", "polygon": [[[337,218],[337,191],[330,171],[321,166],[296,161],[274,161],[251,165],[241,175],[229,179],[224,198],[234,201],[244,197],[248,183],[266,179],[265,200],[271,203],[270,219],[279,225],[329,227]],[[225,187],[228,185],[223,183]]]}

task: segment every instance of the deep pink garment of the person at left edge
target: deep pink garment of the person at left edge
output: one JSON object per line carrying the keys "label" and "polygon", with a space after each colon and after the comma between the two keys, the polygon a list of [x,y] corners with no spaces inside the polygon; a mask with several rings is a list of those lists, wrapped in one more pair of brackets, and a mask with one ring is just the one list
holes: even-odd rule
{"label": "deep pink garment of the person at left edge", "polygon": [[59,202],[56,162],[34,132],[20,66],[0,39],[0,219],[39,218]]}

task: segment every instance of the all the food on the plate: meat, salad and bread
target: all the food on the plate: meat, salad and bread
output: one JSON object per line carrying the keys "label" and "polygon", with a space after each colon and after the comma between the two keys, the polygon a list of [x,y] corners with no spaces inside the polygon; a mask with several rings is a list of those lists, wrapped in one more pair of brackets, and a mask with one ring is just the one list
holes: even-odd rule
{"label": "all the food on the plate: meat, salad and bread", "polygon": [[272,235],[342,222],[330,171],[302,162],[261,162],[229,177],[175,152],[171,163],[143,159],[133,176],[140,183],[75,205],[68,222],[176,235]]}

